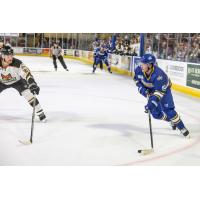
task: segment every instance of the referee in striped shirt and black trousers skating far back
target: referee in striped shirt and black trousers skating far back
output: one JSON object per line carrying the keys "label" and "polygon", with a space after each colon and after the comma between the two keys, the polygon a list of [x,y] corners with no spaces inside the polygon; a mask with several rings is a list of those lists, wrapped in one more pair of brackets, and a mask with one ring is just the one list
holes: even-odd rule
{"label": "referee in striped shirt and black trousers skating far back", "polygon": [[65,61],[64,61],[63,56],[62,56],[62,48],[59,46],[58,42],[55,42],[53,44],[53,46],[51,47],[50,57],[53,58],[53,65],[54,65],[55,71],[57,71],[57,62],[56,62],[57,59],[60,61],[63,68],[66,71],[69,71],[67,69],[67,65],[65,64]]}

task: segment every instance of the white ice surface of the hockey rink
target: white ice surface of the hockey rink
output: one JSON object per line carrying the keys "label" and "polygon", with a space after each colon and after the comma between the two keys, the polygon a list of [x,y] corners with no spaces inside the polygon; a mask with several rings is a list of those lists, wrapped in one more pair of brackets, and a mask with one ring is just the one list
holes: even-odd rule
{"label": "white ice surface of the hockey rink", "polygon": [[200,165],[200,103],[173,91],[177,112],[191,132],[185,139],[168,123],[152,119],[155,152],[150,148],[146,99],[131,77],[100,71],[65,59],[69,72],[48,57],[16,56],[32,71],[40,86],[38,99],[47,122],[36,117],[33,144],[32,108],[14,89],[0,95],[0,165]]}

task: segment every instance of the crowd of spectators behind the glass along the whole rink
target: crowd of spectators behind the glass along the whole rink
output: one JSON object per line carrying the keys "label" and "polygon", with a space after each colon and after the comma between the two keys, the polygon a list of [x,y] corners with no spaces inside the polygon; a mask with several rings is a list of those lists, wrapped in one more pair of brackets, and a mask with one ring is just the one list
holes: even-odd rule
{"label": "crowd of spectators behind the glass along the whole rink", "polygon": [[[112,53],[138,56],[139,33],[116,33]],[[146,33],[145,52],[157,58],[200,63],[200,33]],[[13,47],[50,48],[59,42],[63,49],[93,50],[94,41],[109,46],[113,33],[19,33],[3,36],[4,42]]]}

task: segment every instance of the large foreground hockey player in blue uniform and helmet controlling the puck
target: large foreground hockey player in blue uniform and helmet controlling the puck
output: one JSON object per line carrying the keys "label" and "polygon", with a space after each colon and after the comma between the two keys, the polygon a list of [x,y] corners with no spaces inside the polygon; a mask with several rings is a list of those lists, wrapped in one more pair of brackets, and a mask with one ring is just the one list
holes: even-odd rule
{"label": "large foreground hockey player in blue uniform and helmet controlling the puck", "polygon": [[173,130],[178,128],[183,136],[189,138],[189,131],[175,111],[171,81],[157,66],[154,55],[142,56],[141,66],[135,69],[134,81],[139,93],[148,99],[145,110],[150,111],[155,119],[170,122]]}

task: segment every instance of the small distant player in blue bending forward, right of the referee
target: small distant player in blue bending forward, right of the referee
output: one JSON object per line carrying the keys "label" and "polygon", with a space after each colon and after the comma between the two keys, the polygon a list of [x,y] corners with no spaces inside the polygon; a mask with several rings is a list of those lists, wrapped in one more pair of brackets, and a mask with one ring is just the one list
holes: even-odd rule
{"label": "small distant player in blue bending forward, right of the referee", "polygon": [[108,71],[112,73],[111,67],[108,63],[108,52],[104,47],[101,47],[97,52],[96,52],[96,60],[95,64],[93,65],[93,73],[95,73],[96,68],[100,64],[100,68],[103,69],[103,64],[105,64],[108,68]]}

